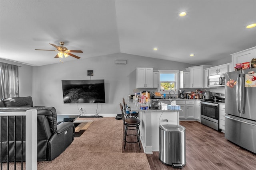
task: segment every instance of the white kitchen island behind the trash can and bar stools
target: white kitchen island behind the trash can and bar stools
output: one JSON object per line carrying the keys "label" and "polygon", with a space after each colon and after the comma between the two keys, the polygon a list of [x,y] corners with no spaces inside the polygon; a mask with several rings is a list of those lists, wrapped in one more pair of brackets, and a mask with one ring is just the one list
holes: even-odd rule
{"label": "white kitchen island behind the trash can and bar stools", "polygon": [[[159,152],[159,125],[179,125],[179,111],[168,110],[167,104],[161,103],[162,109],[140,110],[136,103],[129,101],[131,111],[139,113],[140,119],[140,140],[146,154]],[[167,121],[166,121],[167,120]]]}

